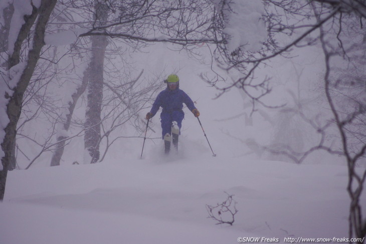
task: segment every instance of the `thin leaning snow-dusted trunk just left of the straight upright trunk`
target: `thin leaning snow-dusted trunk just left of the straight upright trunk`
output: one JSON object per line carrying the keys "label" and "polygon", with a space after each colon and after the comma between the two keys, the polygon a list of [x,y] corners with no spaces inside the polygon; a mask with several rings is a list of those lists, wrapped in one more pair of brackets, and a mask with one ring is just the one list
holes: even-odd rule
{"label": "thin leaning snow-dusted trunk just left of the straight upright trunk", "polygon": [[[78,87],[76,89],[76,91],[74,92],[74,94],[72,94],[72,102],[69,102],[69,113],[66,115],[66,120],[64,121],[63,123],[63,127],[64,127],[64,130],[65,131],[68,131],[69,128],[70,128],[70,124],[71,124],[71,118],[72,118],[72,115],[74,113],[74,109],[75,109],[75,106],[76,106],[76,103],[78,102],[80,96],[85,92],[85,89],[86,89],[86,86],[88,84],[88,80],[89,80],[89,73],[90,73],[90,69],[89,67],[86,68],[86,70],[84,71],[84,77],[83,77],[83,80],[82,80],[82,83],[80,85],[80,87]],[[64,136],[59,136],[57,138],[57,145],[56,145],[56,149],[55,151],[53,152],[53,155],[52,155],[52,159],[51,159],[51,166],[57,166],[57,165],[60,165],[60,161],[61,161],[61,157],[64,153],[64,147],[65,147],[65,139],[67,137],[64,137]]]}

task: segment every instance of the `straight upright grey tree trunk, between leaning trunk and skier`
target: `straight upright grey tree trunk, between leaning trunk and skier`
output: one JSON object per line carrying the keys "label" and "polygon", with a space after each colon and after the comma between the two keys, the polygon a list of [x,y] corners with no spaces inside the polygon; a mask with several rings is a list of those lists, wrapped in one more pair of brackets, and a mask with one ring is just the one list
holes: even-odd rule
{"label": "straight upright grey tree trunk, between leaning trunk and skier", "polygon": [[[108,6],[103,3],[96,3],[95,6],[95,25],[103,25],[108,18]],[[84,163],[96,163],[99,160],[99,143],[100,143],[100,123],[101,108],[103,100],[103,71],[104,71],[104,54],[108,44],[106,36],[93,36],[90,74],[88,82],[88,104],[85,113],[85,135],[84,146],[85,154]]]}

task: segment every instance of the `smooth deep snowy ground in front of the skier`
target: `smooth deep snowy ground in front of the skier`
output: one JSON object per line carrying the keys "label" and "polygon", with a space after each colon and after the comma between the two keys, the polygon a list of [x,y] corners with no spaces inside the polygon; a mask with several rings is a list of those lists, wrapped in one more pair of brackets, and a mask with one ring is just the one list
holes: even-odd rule
{"label": "smooth deep snowy ground in front of the skier", "polygon": [[[9,172],[0,243],[347,237],[345,167],[213,157],[207,148],[201,154],[188,149],[177,159],[156,154]],[[239,210],[233,226],[216,225],[206,210],[206,204],[226,200],[225,192],[234,195]]]}

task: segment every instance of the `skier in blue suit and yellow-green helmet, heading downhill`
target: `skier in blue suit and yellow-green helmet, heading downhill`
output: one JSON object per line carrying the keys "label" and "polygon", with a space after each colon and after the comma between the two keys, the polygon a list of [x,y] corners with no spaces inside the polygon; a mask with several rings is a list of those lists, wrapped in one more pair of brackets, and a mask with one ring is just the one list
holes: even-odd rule
{"label": "skier in blue suit and yellow-green helmet, heading downhill", "polygon": [[180,134],[181,121],[184,119],[183,103],[195,115],[200,116],[200,112],[195,107],[192,99],[182,90],[179,89],[179,78],[177,75],[171,74],[164,81],[167,83],[166,89],[157,95],[155,102],[152,104],[150,112],[146,114],[146,119],[151,119],[156,112],[162,107],[160,114],[161,134],[164,140],[165,153],[170,150],[170,141],[174,147],[178,148],[178,135]]}

